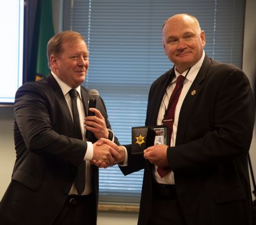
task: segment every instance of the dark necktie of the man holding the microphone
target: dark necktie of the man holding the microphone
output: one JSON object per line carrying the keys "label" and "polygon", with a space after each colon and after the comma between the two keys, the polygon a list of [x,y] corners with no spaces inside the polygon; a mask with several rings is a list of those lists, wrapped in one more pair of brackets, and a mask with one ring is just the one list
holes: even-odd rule
{"label": "dark necktie of the man holding the microphone", "polygon": [[[82,133],[81,133],[81,126],[80,126],[80,120],[79,120],[79,112],[77,109],[77,91],[76,89],[71,89],[68,92],[71,103],[72,103],[72,114],[73,114],[73,124],[74,124],[74,138],[83,140]],[[77,193],[79,195],[82,194],[84,191],[84,185],[85,185],[85,161],[81,163],[79,168],[77,169],[77,175],[74,180]]]}

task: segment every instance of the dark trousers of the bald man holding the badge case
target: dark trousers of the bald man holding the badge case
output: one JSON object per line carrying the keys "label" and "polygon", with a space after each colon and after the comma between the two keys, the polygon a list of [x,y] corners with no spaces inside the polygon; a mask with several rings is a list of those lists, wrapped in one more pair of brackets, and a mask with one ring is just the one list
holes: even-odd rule
{"label": "dark trousers of the bald man holding the badge case", "polygon": [[186,225],[175,185],[153,184],[153,201],[147,225]]}

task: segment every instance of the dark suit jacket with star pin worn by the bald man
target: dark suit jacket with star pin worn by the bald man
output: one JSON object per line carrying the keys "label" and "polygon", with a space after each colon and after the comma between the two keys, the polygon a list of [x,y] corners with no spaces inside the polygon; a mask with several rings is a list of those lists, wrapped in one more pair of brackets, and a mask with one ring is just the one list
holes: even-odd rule
{"label": "dark suit jacket with star pin worn by the bald man", "polygon": [[[164,91],[173,76],[171,69],[152,84],[146,126],[156,125]],[[247,160],[254,113],[252,90],[243,71],[205,55],[182,103],[176,146],[167,151],[188,225],[252,223]],[[132,155],[131,145],[127,150],[128,166],[121,167],[123,173],[145,168],[138,221],[144,225],[154,214],[150,212],[152,164],[143,156]]]}

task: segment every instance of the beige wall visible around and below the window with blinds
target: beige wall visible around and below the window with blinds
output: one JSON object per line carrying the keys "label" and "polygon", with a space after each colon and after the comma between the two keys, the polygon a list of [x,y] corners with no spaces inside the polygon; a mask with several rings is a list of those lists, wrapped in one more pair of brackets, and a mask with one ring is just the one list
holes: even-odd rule
{"label": "beige wall visible around and below the window with blinds", "polygon": [[[256,1],[247,0],[244,27],[243,70],[246,75],[248,75],[251,83],[253,83],[253,77],[256,76],[256,26],[253,22],[255,20],[255,11]],[[252,159],[254,176],[256,178],[256,129],[253,134],[250,156]],[[14,161],[13,108],[0,107],[0,200],[10,182]],[[99,212],[98,225],[135,225],[137,218],[137,213]]]}

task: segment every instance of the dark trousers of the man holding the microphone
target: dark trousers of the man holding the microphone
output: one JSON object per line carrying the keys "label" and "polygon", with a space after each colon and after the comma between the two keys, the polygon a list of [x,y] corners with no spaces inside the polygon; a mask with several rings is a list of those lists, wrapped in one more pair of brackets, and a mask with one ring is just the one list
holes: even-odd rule
{"label": "dark trousers of the man holding the microphone", "polygon": [[96,203],[93,196],[68,196],[52,225],[96,225]]}

